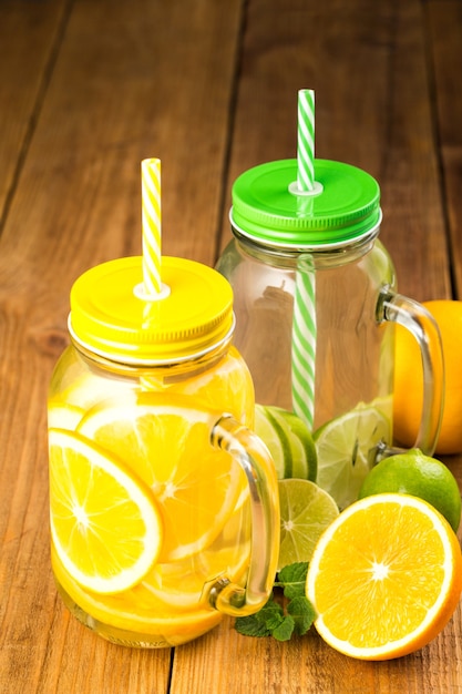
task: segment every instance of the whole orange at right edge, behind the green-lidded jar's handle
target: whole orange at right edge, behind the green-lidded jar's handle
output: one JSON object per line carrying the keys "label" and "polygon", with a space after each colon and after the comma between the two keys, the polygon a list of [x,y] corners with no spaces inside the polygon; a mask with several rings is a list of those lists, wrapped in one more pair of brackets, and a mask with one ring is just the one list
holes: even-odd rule
{"label": "whole orange at right edge, behind the green-lidded jar's handle", "polygon": [[[445,367],[443,420],[437,453],[462,452],[462,302],[424,302],[441,333]],[[393,431],[404,446],[415,442],[421,411],[423,376],[415,339],[397,326],[394,348]]]}

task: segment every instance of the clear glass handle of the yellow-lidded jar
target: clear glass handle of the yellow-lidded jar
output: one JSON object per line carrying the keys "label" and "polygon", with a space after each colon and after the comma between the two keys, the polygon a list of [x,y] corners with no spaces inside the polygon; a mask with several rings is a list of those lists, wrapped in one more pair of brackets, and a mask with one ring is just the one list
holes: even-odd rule
{"label": "clear glass handle of the yellow-lidded jar", "polygon": [[246,588],[228,579],[217,580],[208,595],[211,604],[226,614],[257,612],[268,600],[279,551],[279,496],[274,462],[261,440],[230,416],[212,431],[212,445],[233,456],[243,468],[250,491],[251,548]]}

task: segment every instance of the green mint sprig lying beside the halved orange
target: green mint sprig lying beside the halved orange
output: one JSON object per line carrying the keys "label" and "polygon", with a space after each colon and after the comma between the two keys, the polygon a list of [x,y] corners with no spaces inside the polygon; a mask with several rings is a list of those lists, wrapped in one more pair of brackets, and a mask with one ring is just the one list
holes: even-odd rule
{"label": "green mint sprig lying beside the halved orange", "polygon": [[[268,602],[255,614],[238,616],[236,631],[244,636],[273,636],[277,641],[289,641],[294,634],[306,634],[316,618],[305,595],[307,571],[308,562],[281,569]],[[286,604],[280,593],[286,598]]]}

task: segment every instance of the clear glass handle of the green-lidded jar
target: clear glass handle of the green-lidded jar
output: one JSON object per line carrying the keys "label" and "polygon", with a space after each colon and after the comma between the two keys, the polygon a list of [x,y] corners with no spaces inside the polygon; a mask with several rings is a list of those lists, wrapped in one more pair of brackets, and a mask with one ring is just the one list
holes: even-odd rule
{"label": "clear glass handle of the green-lidded jar", "polygon": [[[432,456],[437,447],[444,405],[444,360],[440,329],[430,312],[401,294],[384,290],[379,302],[379,322],[391,320],[407,328],[418,341],[423,368],[423,405],[413,448]],[[384,448],[382,456],[402,452]]]}

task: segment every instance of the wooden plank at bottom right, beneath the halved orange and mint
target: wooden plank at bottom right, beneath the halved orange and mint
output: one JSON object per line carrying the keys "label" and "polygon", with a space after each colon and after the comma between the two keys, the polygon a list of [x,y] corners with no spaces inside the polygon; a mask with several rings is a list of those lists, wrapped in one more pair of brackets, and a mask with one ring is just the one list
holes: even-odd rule
{"label": "wooden plank at bottom right, beneath the halved orange and mint", "polygon": [[[454,633],[446,630],[420,652],[386,662],[348,659],[327,646],[311,630],[280,643],[274,639],[242,636],[225,620],[214,632],[176,650],[172,694],[277,692],[289,694],[434,694],[456,691],[461,664],[442,657]],[[455,651],[455,644],[453,646]]]}

